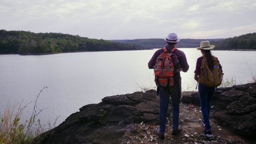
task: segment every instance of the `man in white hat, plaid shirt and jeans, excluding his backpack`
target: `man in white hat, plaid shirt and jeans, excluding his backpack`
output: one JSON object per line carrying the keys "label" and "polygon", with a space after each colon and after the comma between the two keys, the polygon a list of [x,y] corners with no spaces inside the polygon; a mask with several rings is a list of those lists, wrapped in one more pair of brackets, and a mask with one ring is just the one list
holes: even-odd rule
{"label": "man in white hat, plaid shirt and jeans, excluding his backpack", "polygon": [[[176,33],[170,33],[164,38],[166,41],[166,49],[168,52],[175,48],[177,42],[180,41]],[[150,61],[148,62],[148,68],[153,69],[156,63],[156,59],[160,54],[164,52],[163,48],[157,50]],[[179,126],[179,116],[180,116],[180,98],[181,98],[181,77],[180,72],[187,72],[189,65],[186,59],[186,55],[179,49],[174,50],[172,54],[175,54],[178,58],[179,64],[174,67],[174,86],[172,87],[160,87],[159,90],[159,101],[160,101],[160,110],[159,110],[159,130],[157,134],[159,138],[164,139],[164,133],[166,128],[166,117],[167,110],[169,105],[169,98],[171,96],[172,100],[172,135],[179,134],[182,131],[182,128]]]}

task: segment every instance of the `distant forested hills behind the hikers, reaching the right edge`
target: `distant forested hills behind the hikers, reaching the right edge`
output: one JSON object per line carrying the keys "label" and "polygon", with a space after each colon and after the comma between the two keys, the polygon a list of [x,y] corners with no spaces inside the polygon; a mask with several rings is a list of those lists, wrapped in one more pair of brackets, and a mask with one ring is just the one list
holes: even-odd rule
{"label": "distant forested hills behind the hikers, reaching the right edge", "polygon": [[[201,41],[209,40],[211,45],[215,45],[215,50],[237,50],[254,49],[256,50],[256,33],[244,34],[233,38],[218,39],[180,39],[178,48],[196,48],[200,46]],[[135,40],[112,40],[113,42],[122,42],[125,44],[138,44],[147,48],[162,48],[165,46],[163,38],[155,39],[135,39]]]}

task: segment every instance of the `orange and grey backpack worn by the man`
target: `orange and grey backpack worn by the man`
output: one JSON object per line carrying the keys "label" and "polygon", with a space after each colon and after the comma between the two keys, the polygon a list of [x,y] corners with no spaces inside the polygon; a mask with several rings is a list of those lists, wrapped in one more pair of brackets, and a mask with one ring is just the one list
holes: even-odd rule
{"label": "orange and grey backpack worn by the man", "polygon": [[[156,59],[154,66],[155,82],[157,86],[161,87],[172,87],[174,86],[173,75],[174,75],[174,64],[172,60],[172,52],[177,48],[172,48],[170,52],[167,51],[166,47],[163,48],[164,52]],[[178,60],[176,58],[176,60]]]}

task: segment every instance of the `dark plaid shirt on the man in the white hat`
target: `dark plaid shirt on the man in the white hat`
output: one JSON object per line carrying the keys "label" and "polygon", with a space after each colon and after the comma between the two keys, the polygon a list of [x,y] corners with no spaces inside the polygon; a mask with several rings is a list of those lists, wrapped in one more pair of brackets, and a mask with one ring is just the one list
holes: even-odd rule
{"label": "dark plaid shirt on the man in the white hat", "polygon": [[[165,46],[167,48],[167,51],[171,51],[172,48],[174,48],[174,46],[169,46],[168,44]],[[150,61],[148,62],[148,68],[149,69],[153,69],[155,64],[156,64],[156,59],[158,58],[158,56],[160,56],[160,54],[162,54],[164,52],[164,50],[161,48],[159,50],[157,50],[154,55],[152,56],[152,58],[150,59]],[[184,52],[182,52],[181,50],[177,49],[173,52],[173,54],[176,54],[176,56],[178,57],[178,60],[180,62],[180,66],[182,68],[183,72],[187,72],[189,65],[187,62],[187,58],[186,55],[184,54]]]}

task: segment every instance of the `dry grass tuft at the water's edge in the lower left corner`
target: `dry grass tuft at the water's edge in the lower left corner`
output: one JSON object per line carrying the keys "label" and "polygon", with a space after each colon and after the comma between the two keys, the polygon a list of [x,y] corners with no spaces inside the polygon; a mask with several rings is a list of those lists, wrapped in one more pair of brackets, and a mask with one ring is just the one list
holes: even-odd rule
{"label": "dry grass tuft at the water's edge in the lower left corner", "polygon": [[[44,87],[47,88],[47,87]],[[43,88],[43,89],[44,89]],[[43,90],[42,89],[42,90]],[[22,106],[22,102],[18,102],[14,104],[14,106],[10,106],[10,100],[6,106],[6,110],[1,117],[0,121],[0,143],[1,144],[30,144],[38,141],[38,136],[45,132],[46,130],[50,130],[55,123],[51,126],[50,123],[42,125],[40,124],[40,119],[36,119],[38,114],[42,110],[37,109],[37,100],[42,92],[39,92],[36,97],[36,101],[30,102],[34,103],[34,109],[30,118],[25,120],[24,123],[20,124],[20,117],[22,116],[22,112],[24,108],[28,106]],[[30,104],[29,103],[29,104]],[[0,112],[1,114],[1,112]],[[37,138],[37,139],[34,139]],[[39,138],[40,139],[40,138]]]}

